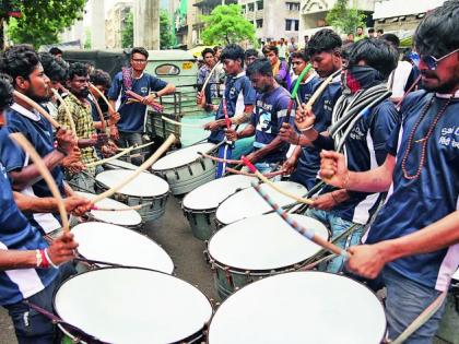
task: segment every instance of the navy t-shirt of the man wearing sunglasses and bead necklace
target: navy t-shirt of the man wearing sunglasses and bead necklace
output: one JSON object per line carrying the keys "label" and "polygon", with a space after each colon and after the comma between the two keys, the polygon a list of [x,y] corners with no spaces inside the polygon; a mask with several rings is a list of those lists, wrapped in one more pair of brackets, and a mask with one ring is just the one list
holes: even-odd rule
{"label": "navy t-shirt of the man wearing sunglasses and bead necklace", "polygon": [[[402,158],[410,133],[431,102],[433,93],[417,91],[407,96],[401,107],[403,117],[399,130],[388,140],[388,152],[397,157],[392,186],[385,206],[369,229],[367,244],[399,238],[447,216],[459,207],[459,98],[446,108],[428,139],[425,164],[416,179],[407,179]],[[420,166],[422,142],[446,99],[435,96],[426,116],[417,127],[412,150],[407,159],[409,175]],[[405,257],[388,266],[407,278],[443,290],[459,264],[459,245],[425,254]]]}

